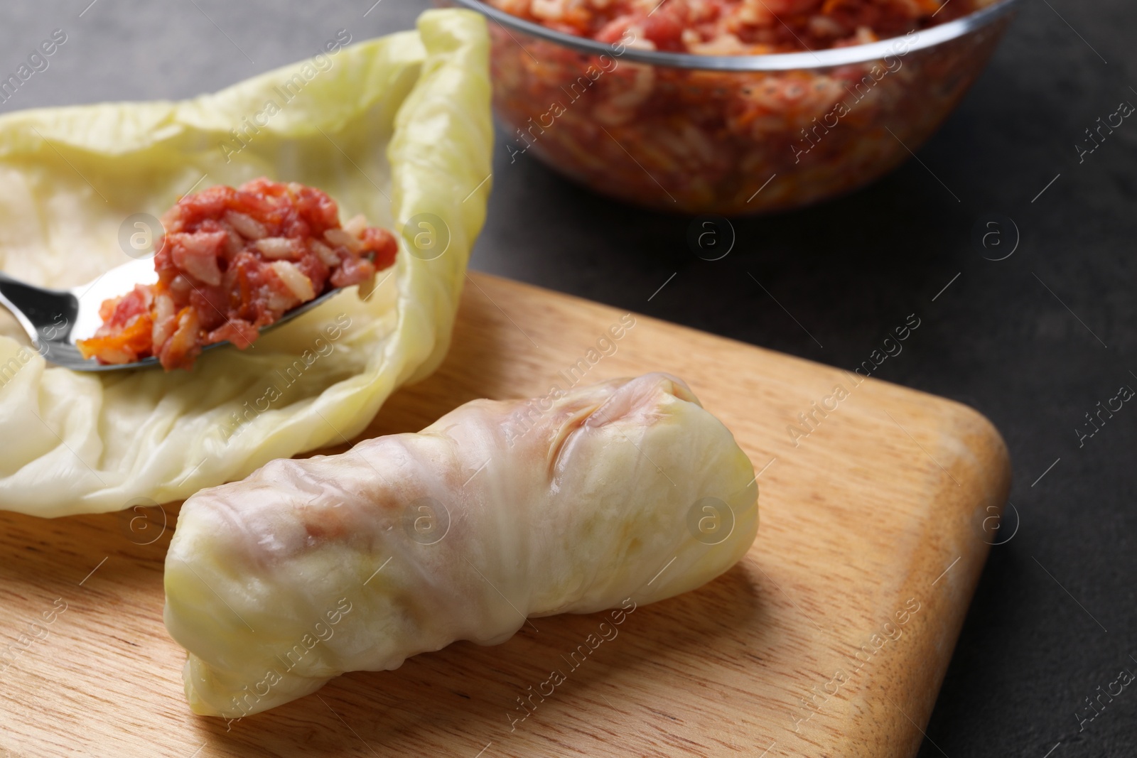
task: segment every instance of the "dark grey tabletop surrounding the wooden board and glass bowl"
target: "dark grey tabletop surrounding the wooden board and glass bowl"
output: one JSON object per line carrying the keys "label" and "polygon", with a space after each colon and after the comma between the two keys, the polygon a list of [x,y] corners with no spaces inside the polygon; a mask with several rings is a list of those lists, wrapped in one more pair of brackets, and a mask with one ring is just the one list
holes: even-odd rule
{"label": "dark grey tabletop surrounding the wooden board and glass bowl", "polygon": [[[339,28],[409,28],[428,7],[89,2],[5,2],[3,77],[52,30],[67,42],[0,113],[191,97],[308,57]],[[1137,409],[1076,432],[1098,401],[1137,388],[1137,123],[1082,164],[1074,148],[1097,117],[1137,103],[1135,32],[1126,0],[1024,0],[919,151],[927,168],[908,161],[839,200],[737,220],[735,249],[714,263],[688,249],[689,219],[598,198],[529,157],[511,165],[498,139],[474,268],[846,368],[915,311],[927,326],[878,375],[1002,430],[1018,530],[991,550],[921,757],[1137,756],[1137,692],[1081,730],[1074,715],[1120,669],[1137,673]],[[971,242],[988,214],[1020,231],[1005,260]]]}

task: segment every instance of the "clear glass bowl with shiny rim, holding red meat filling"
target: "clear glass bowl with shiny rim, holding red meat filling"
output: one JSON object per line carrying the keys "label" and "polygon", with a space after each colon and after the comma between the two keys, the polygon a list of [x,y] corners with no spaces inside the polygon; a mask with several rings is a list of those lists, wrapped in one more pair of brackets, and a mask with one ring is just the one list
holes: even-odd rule
{"label": "clear glass bowl with shiny rim, holding red meat filling", "polygon": [[871,44],[699,56],[448,0],[489,20],[511,163],[532,153],[626,202],[722,216],[810,205],[895,168],[982,70],[1016,2]]}

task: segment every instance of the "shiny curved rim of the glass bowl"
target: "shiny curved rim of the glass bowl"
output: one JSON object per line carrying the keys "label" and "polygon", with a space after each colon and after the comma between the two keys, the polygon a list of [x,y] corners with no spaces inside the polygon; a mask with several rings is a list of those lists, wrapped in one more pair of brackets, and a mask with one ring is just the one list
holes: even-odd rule
{"label": "shiny curved rim of the glass bowl", "polygon": [[[828,50],[805,52],[779,52],[762,56],[700,56],[689,52],[639,50],[619,43],[607,44],[597,40],[557,32],[499,10],[483,2],[483,0],[448,0],[448,2],[485,16],[488,19],[499,24],[506,32],[513,30],[528,36],[540,38],[549,42],[556,42],[565,48],[596,56],[606,55],[632,63],[666,66],[670,68],[786,72],[865,64],[873,60],[881,60],[888,56],[903,57],[914,50],[923,50],[943,44],[988,26],[1011,13],[1014,6],[1019,3],[1019,0],[996,0],[986,8],[980,8],[966,16],[919,32],[910,32],[906,36],[890,38],[869,44],[849,45],[847,48],[830,48]],[[908,40],[913,34],[915,34],[916,39]],[[516,39],[514,41],[524,50],[524,45],[520,41]],[[620,50],[621,47],[623,47],[623,50]]]}

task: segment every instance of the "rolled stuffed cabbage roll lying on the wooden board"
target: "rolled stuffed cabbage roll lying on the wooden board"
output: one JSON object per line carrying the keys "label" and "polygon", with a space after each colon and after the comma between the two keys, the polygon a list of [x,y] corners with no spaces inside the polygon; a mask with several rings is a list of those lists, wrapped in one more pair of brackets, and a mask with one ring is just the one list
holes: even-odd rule
{"label": "rolled stuffed cabbage roll lying on the wooden board", "polygon": [[531,616],[662,600],[746,553],[753,466],[686,384],[558,394],[475,400],[190,498],[165,620],[193,711],[236,718]]}

